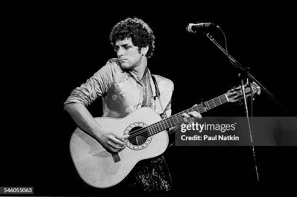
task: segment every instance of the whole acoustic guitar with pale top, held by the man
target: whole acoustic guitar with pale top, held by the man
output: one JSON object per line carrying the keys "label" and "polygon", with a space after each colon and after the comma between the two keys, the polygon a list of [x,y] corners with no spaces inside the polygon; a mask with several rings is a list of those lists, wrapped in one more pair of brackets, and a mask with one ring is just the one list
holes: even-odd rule
{"label": "whole acoustic guitar with pale top, held by the man", "polygon": [[[260,94],[256,83],[245,85],[246,96]],[[161,155],[168,145],[167,128],[182,122],[182,113],[198,111],[203,113],[227,102],[243,98],[241,87],[233,88],[212,100],[191,107],[168,118],[161,119],[152,108],[136,109],[128,116],[115,118],[95,118],[106,130],[117,135],[130,134],[126,147],[117,154],[111,154],[93,137],[76,128],[70,140],[70,153],[81,178],[91,186],[106,188],[123,180],[133,166],[141,160]]]}

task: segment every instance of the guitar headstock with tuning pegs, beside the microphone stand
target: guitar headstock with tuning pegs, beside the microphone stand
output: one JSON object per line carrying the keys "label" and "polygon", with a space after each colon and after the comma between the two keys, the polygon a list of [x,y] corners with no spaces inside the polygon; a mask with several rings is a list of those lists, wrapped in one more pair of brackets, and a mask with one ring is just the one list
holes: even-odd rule
{"label": "guitar headstock with tuning pegs, beside the microphone stand", "polygon": [[[245,85],[245,93],[247,97],[251,95],[250,89],[252,89],[253,96],[255,94],[259,95],[261,93],[260,87],[255,82],[253,82],[251,84],[251,88],[249,87],[249,84]],[[243,91],[241,86],[239,86],[237,88],[233,88],[229,90],[225,95],[228,102],[236,102],[236,101],[240,101],[243,98]]]}

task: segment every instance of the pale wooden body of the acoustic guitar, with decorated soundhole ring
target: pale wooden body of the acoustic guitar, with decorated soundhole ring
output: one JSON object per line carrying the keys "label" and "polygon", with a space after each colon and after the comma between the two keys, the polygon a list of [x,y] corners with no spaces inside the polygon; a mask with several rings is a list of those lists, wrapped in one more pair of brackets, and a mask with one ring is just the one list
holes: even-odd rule
{"label": "pale wooden body of the acoustic guitar, with decorated soundhole ring", "polygon": [[[154,109],[142,107],[125,118],[95,118],[95,120],[104,129],[123,136],[156,123],[161,117]],[[150,137],[142,133],[137,138],[130,136],[126,147],[118,154],[112,155],[97,140],[77,128],[70,140],[70,152],[81,178],[94,187],[105,188],[123,180],[138,161],[161,155],[167,145],[166,131]]]}

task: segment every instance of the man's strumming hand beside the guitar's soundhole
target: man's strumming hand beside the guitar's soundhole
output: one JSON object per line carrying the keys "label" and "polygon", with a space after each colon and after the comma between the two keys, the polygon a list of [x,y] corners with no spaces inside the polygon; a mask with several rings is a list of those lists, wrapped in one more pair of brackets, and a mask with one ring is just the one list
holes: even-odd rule
{"label": "man's strumming hand beside the guitar's soundhole", "polygon": [[116,154],[122,151],[126,146],[125,142],[129,135],[118,136],[113,132],[102,132],[99,134],[98,139],[101,145],[110,153]]}

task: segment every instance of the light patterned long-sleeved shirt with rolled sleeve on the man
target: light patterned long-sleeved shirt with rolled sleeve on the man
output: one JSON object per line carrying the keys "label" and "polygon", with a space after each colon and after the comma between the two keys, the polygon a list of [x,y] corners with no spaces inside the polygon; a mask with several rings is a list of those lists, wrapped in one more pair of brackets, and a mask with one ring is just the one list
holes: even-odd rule
{"label": "light patterned long-sleeved shirt with rolled sleeve on the man", "polygon": [[[167,117],[171,115],[173,82],[165,77],[154,75],[160,90],[160,100]],[[86,83],[74,89],[67,103],[81,103],[89,106],[101,97],[102,117],[123,118],[140,107],[151,107],[164,118],[162,107],[156,96],[155,86],[149,70],[143,81],[131,70],[122,69],[117,58],[110,59]]]}

